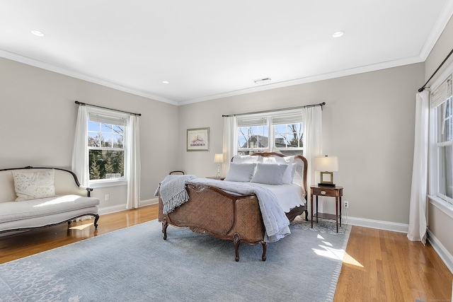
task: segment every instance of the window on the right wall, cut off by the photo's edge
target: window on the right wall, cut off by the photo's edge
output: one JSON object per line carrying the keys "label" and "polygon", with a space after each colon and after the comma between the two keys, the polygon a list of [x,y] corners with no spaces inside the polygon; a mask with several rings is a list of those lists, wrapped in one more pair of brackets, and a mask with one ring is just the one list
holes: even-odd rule
{"label": "window on the right wall, cut off by the photo's edge", "polygon": [[453,97],[452,76],[431,95],[432,137],[435,139],[437,197],[453,203]]}

